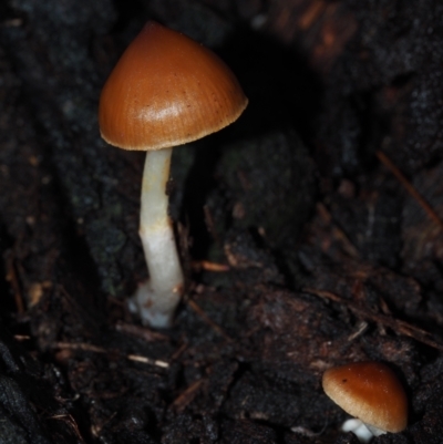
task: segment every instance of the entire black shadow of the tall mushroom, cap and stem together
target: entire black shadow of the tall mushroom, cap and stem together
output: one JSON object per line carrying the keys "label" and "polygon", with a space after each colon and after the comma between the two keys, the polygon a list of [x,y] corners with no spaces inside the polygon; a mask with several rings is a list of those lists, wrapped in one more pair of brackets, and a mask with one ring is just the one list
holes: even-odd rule
{"label": "entire black shadow of the tall mushroom, cap and stem together", "polygon": [[322,96],[322,85],[307,61],[269,37],[240,28],[216,52],[237,75],[249,104],[237,122],[195,143],[181,211],[189,225],[195,259],[206,257],[213,240],[204,206],[216,186],[214,175],[224,146],[288,128],[309,145]]}

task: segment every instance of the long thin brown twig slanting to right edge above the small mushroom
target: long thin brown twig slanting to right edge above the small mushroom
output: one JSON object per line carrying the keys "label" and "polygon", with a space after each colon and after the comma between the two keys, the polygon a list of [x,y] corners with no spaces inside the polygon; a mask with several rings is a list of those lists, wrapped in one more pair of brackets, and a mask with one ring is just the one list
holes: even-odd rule
{"label": "long thin brown twig slanting to right edge above the small mushroom", "polygon": [[310,295],[319,296],[320,298],[333,300],[334,302],[339,302],[340,304],[346,306],[354,314],[361,318],[370,319],[371,321],[374,321],[381,326],[389,327],[399,334],[413,338],[419,342],[423,342],[426,345],[443,351],[443,344],[436,342],[432,338],[431,333],[429,333],[425,330],[419,329],[414,326],[411,326],[408,322],[400,321],[399,319],[392,318],[391,316],[374,313],[373,311],[368,310],[364,307],[361,307],[359,303],[340,298],[339,296],[332,293],[331,291],[318,290],[315,288],[303,288],[302,291]]}

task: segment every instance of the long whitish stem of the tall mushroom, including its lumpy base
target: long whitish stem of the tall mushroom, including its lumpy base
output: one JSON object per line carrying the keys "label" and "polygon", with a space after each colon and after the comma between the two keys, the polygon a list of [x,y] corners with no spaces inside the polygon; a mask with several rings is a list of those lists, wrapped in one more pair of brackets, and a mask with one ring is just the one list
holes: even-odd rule
{"label": "long whitish stem of the tall mushroom, including its lumpy base", "polygon": [[166,185],[172,148],[146,153],[142,184],[140,237],[150,281],[138,287],[135,304],[144,323],[169,327],[183,290],[183,271],[167,215]]}

